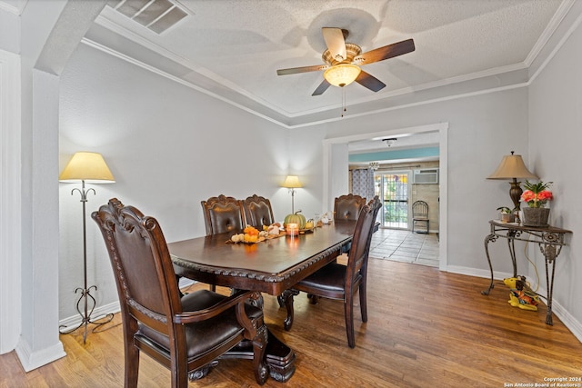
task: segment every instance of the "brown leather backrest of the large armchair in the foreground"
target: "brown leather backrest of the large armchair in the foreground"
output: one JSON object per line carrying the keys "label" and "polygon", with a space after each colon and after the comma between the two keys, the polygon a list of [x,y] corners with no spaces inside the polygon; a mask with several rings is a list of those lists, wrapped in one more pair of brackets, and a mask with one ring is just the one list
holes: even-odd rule
{"label": "brown leather backrest of the large armchair in the foreground", "polygon": [[[99,225],[115,275],[122,320],[136,329],[135,320],[159,333],[184,338],[176,274],[166,239],[156,219],[113,198],[91,217]],[[125,340],[128,340],[125,338]]]}

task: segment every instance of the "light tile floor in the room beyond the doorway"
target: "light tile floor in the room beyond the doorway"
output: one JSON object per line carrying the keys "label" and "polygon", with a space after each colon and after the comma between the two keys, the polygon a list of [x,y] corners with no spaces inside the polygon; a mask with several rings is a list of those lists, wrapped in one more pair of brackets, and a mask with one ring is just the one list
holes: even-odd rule
{"label": "light tile floor in the room beyond the doorway", "polygon": [[437,234],[379,229],[372,234],[370,257],[438,267]]}

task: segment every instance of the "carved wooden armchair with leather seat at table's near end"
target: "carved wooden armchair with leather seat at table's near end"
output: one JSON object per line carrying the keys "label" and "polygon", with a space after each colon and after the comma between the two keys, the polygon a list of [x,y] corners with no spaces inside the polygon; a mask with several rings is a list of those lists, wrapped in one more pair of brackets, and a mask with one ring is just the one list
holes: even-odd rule
{"label": "carved wooden armchair with leather seat at table's near end", "polygon": [[259,293],[223,296],[198,290],[180,297],[166,239],[156,219],[116,198],[91,214],[103,234],[121,306],[125,388],[137,386],[140,353],[171,372],[172,387],[206,376],[216,359],[243,340],[253,343],[256,383],[268,377]]}

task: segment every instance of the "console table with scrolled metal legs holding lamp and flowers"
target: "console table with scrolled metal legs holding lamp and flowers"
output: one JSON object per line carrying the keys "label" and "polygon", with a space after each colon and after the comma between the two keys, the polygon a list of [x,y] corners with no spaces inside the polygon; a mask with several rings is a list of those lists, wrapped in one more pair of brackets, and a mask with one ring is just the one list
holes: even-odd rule
{"label": "console table with scrolled metal legs holding lamp and flowers", "polygon": [[[532,227],[524,226],[523,224],[517,223],[501,223],[497,220],[489,221],[491,225],[491,233],[487,234],[485,237],[485,254],[487,254],[487,262],[489,263],[489,269],[491,270],[491,284],[489,288],[482,291],[484,295],[488,295],[493,289],[493,265],[491,264],[491,258],[489,257],[489,243],[497,241],[497,238],[502,237],[507,239],[507,246],[509,248],[509,255],[511,256],[511,262],[513,264],[513,275],[517,277],[517,263],[516,263],[516,247],[515,241],[527,241],[530,243],[538,244],[539,250],[546,259],[546,284],[547,284],[547,315],[546,323],[553,324],[552,322],[552,293],[554,290],[554,272],[556,269],[556,258],[562,250],[562,246],[566,245],[564,243],[564,235],[572,233],[566,229],[556,228],[554,226],[547,227]],[[522,234],[527,234],[523,236]],[[551,270],[551,276],[550,276]]]}

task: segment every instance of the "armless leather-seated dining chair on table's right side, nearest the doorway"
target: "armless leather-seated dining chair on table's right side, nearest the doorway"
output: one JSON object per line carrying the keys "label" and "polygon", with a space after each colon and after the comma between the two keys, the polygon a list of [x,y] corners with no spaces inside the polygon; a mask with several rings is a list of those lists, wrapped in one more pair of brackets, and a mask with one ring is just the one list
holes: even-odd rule
{"label": "armless leather-seated dining chair on table's right side, nearest the doorway", "polygon": [[284,322],[286,330],[291,329],[293,323],[293,297],[303,291],[309,295],[336,299],[344,302],[346,319],[347,344],[350,348],[356,346],[354,334],[354,295],[359,292],[360,313],[362,322],[367,322],[366,279],[367,260],[370,251],[372,234],[375,230],[376,215],[381,202],[374,197],[369,204],[365,204],[356,222],[356,229],[352,238],[352,245],[347,255],[347,264],[330,263],[317,270],[314,274],[295,284],[286,294],[287,316]]}

